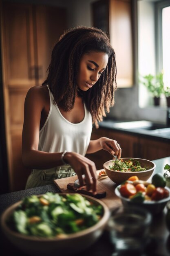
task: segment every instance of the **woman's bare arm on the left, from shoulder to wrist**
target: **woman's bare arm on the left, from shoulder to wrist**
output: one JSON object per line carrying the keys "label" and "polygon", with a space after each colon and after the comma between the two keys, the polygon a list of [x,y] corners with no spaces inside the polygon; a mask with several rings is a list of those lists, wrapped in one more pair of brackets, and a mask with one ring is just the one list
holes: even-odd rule
{"label": "woman's bare arm on the left, from shoulder to wrist", "polygon": [[28,168],[52,168],[61,165],[62,153],[38,150],[41,113],[46,108],[46,88],[36,86],[26,94],[22,130],[22,162]]}

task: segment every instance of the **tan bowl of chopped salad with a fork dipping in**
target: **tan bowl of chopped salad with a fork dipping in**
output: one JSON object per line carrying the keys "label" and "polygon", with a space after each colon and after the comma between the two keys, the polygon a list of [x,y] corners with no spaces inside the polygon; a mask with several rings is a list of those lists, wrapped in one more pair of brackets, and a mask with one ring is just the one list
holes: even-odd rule
{"label": "tan bowl of chopped salad with a fork dipping in", "polygon": [[109,160],[104,163],[104,171],[116,184],[121,184],[131,176],[139,180],[148,180],[155,170],[155,163],[141,158],[121,158]]}

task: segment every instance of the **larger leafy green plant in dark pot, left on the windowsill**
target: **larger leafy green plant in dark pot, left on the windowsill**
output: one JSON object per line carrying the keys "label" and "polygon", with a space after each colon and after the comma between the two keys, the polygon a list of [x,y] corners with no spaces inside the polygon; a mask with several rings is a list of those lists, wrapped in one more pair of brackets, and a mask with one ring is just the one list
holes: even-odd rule
{"label": "larger leafy green plant in dark pot, left on the windowsill", "polygon": [[160,96],[163,93],[163,73],[159,73],[157,76],[148,74],[143,76],[143,79],[144,80],[141,81],[141,83],[143,83],[148,89],[148,92],[152,94],[154,105],[159,106]]}

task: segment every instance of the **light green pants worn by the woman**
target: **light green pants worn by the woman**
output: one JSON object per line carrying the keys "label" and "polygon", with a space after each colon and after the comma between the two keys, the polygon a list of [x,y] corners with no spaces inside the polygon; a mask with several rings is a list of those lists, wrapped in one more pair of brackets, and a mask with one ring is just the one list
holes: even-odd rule
{"label": "light green pants worn by the woman", "polygon": [[70,165],[57,166],[46,170],[32,170],[26,182],[25,189],[53,184],[53,180],[75,176],[76,173]]}

